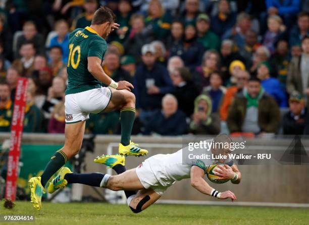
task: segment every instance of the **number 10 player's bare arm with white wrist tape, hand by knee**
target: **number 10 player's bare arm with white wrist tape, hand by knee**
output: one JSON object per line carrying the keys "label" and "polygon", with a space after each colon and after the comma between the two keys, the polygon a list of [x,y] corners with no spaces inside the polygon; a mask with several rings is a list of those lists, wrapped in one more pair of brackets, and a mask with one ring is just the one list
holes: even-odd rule
{"label": "number 10 player's bare arm with white wrist tape, hand by knee", "polygon": [[[101,67],[101,60],[97,57],[88,57],[88,71],[92,74],[92,76],[98,81],[112,86],[117,90],[128,90],[131,91],[130,88],[134,88],[133,85],[128,81],[119,81],[118,83],[114,82],[112,78],[110,78]],[[113,86],[115,83],[115,86]]]}

